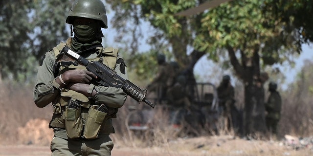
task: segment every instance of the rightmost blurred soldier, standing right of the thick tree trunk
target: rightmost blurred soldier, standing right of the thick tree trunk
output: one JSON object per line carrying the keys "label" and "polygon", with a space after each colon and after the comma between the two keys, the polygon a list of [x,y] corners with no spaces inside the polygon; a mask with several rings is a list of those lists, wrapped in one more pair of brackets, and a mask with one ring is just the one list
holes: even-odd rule
{"label": "rightmost blurred soldier, standing right of the thick tree trunk", "polygon": [[268,131],[271,131],[274,134],[277,134],[277,125],[280,119],[280,111],[282,107],[282,99],[276,89],[277,84],[275,82],[270,82],[268,84],[268,91],[270,92],[270,95],[268,97],[268,102],[265,103],[265,109],[267,111],[266,125]]}

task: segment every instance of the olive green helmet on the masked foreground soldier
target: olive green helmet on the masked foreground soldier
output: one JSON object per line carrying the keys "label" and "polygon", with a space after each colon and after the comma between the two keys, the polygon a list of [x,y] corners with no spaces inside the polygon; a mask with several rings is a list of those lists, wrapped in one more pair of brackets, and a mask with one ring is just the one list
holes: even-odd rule
{"label": "olive green helmet on the masked foreground soldier", "polygon": [[102,28],[108,28],[106,8],[101,0],[75,0],[70,9],[66,22],[73,24],[74,17],[100,20]]}

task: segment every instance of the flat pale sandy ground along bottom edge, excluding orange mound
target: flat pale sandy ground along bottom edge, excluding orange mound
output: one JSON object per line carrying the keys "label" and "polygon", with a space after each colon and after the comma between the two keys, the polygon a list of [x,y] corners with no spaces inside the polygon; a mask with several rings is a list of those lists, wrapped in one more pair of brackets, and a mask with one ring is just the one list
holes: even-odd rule
{"label": "flat pale sandy ground along bottom edge, excluding orange mound", "polygon": [[[0,145],[0,156],[50,156],[49,146]],[[294,148],[282,141],[213,136],[179,138],[162,147],[132,148],[115,143],[112,156],[312,156],[312,147]]]}

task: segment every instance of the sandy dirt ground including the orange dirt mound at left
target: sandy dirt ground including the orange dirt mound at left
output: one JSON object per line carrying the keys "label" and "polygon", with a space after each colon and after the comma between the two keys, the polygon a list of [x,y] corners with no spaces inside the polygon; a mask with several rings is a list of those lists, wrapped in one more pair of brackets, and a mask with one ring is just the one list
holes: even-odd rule
{"label": "sandy dirt ground including the orange dirt mound at left", "polygon": [[[46,120],[33,119],[18,128],[19,145],[6,142],[7,137],[0,133],[0,156],[51,156],[49,142],[53,133],[46,125]],[[112,156],[313,156],[313,137],[301,142],[292,136],[274,141],[227,135],[169,140],[164,135],[157,145],[150,147],[140,140],[125,143],[114,135]]]}

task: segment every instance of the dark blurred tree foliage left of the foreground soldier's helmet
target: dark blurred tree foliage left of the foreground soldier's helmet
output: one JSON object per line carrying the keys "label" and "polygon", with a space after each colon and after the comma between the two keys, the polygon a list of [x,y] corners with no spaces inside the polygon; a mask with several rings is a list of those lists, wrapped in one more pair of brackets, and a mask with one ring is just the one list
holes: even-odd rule
{"label": "dark blurred tree foliage left of the foreground soldier's helmet", "polygon": [[[2,0],[0,2],[0,73],[27,80],[49,49],[66,39],[64,0]],[[36,60],[32,58],[35,56]],[[32,62],[32,64],[29,64]],[[23,75],[21,77],[21,75]]]}

